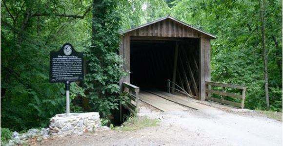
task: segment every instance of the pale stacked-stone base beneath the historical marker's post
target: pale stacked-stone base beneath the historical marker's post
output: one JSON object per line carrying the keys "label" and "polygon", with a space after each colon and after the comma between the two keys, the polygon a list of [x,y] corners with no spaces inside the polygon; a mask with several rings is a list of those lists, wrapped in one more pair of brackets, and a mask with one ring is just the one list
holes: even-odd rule
{"label": "pale stacked-stone base beneath the historical marker's post", "polygon": [[57,114],[50,120],[49,135],[67,136],[81,135],[84,132],[94,132],[101,129],[98,112]]}

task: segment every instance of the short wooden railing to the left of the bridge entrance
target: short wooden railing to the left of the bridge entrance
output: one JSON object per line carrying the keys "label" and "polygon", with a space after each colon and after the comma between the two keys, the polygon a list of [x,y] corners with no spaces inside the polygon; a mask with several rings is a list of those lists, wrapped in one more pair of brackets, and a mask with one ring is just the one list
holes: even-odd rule
{"label": "short wooden railing to the left of the bridge entrance", "polygon": [[139,112],[139,91],[140,88],[137,86],[134,86],[130,83],[123,82],[122,84],[122,91],[126,94],[126,96],[130,99],[130,102],[127,103],[125,106],[131,110],[132,112]]}

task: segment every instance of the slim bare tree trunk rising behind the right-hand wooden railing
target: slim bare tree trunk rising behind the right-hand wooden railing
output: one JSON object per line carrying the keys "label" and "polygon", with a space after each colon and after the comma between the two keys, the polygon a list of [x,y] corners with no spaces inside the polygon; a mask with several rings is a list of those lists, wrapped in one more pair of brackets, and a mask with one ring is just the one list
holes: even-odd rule
{"label": "slim bare tree trunk rising behind the right-hand wooden railing", "polygon": [[261,0],[259,0],[259,10],[260,10],[260,17],[262,23],[262,41],[263,41],[263,64],[264,64],[264,80],[265,80],[265,102],[266,102],[266,109],[269,109],[269,93],[268,93],[268,72],[267,72],[267,55],[266,55],[266,48],[265,48],[265,0],[263,0],[263,10]]}

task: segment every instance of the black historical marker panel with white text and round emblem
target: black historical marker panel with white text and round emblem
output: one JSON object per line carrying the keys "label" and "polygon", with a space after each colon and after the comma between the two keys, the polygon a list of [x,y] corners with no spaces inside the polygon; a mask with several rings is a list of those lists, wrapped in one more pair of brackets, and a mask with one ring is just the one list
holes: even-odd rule
{"label": "black historical marker panel with white text and round emblem", "polygon": [[50,52],[49,81],[66,82],[83,80],[83,53],[76,52],[69,43],[60,51]]}

